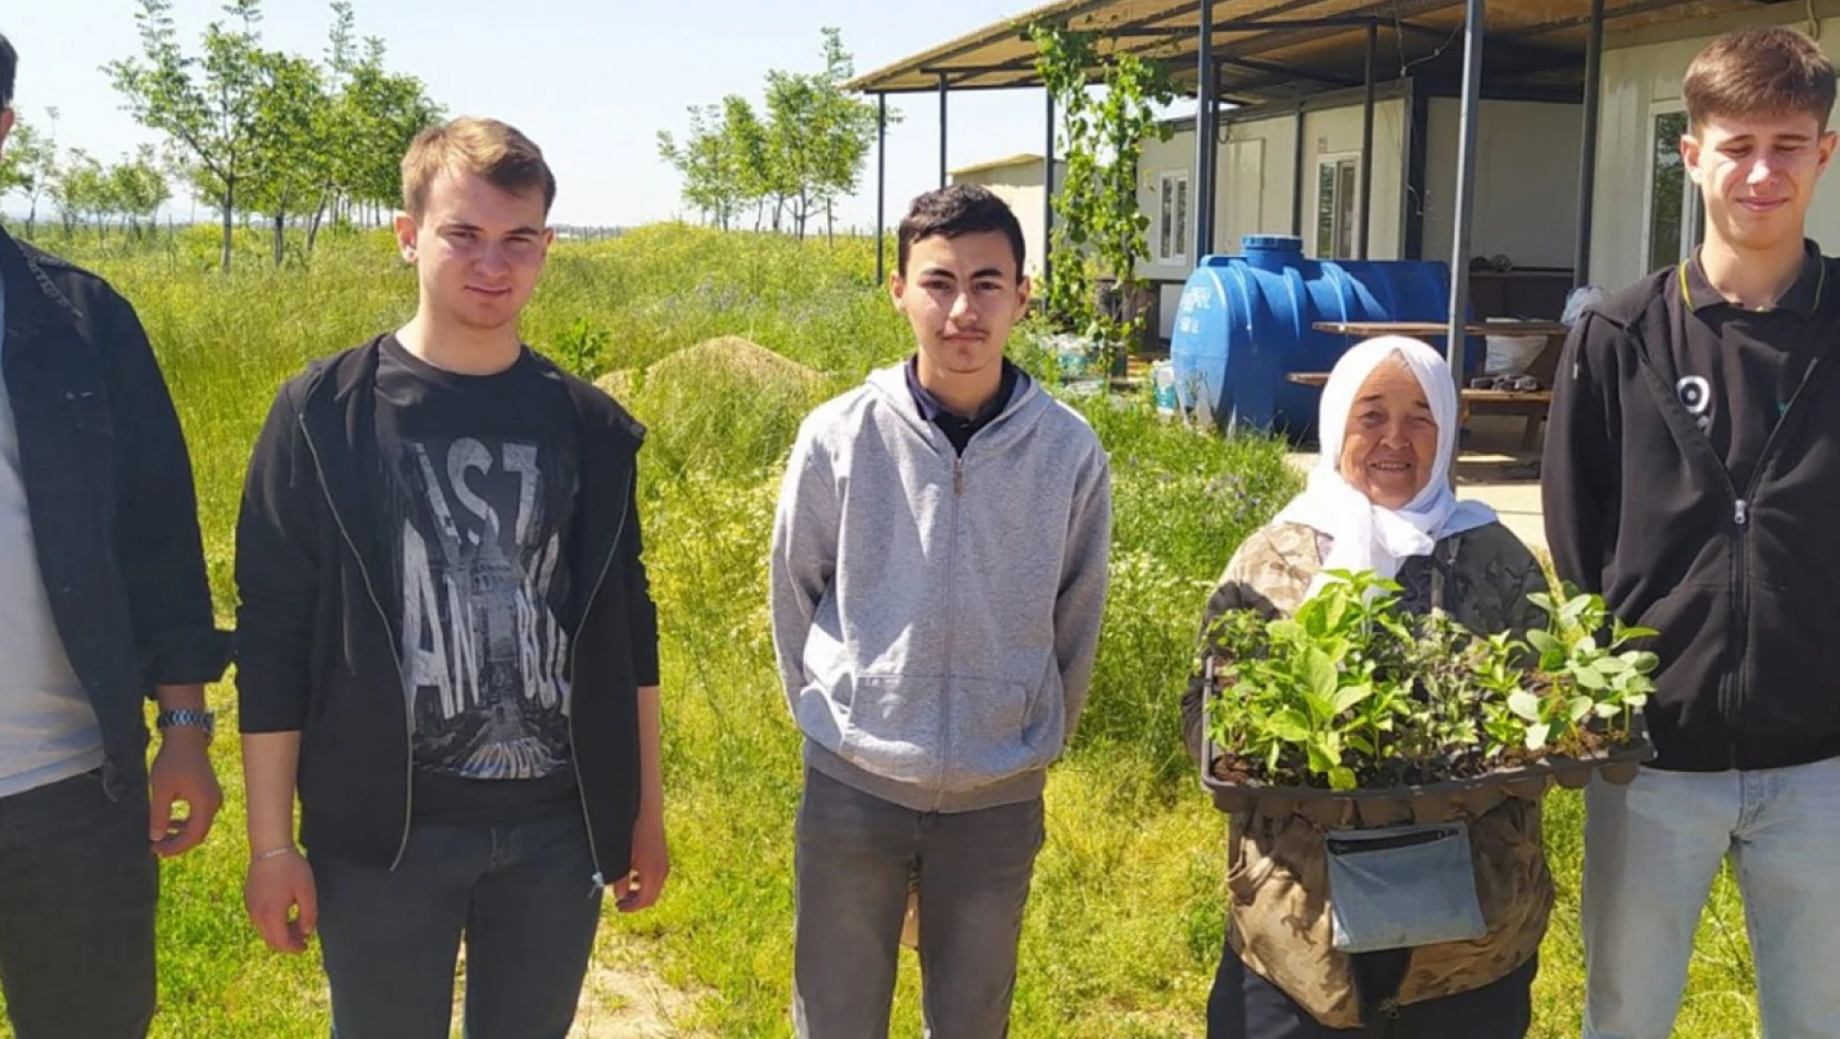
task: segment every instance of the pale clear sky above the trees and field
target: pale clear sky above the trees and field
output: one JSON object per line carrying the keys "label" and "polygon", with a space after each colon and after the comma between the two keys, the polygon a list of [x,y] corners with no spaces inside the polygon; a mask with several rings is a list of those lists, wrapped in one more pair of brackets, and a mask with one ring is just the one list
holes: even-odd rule
{"label": "pale clear sky above the trees and field", "polygon": [[[821,26],[843,29],[857,72],[880,68],[1040,0],[355,0],[359,35],[383,37],[388,63],[420,75],[449,112],[502,118],[537,140],[559,180],[554,219],[638,224],[694,217],[659,160],[657,131],[683,131],[686,105],[725,94],[760,99],[769,68],[817,70]],[[29,121],[59,108],[66,147],[114,162],[156,134],[120,108],[103,63],[138,51],[132,0],[7,0],[0,33],[20,51],[15,107]],[[195,44],[215,0],[175,0],[180,39]],[[322,57],[331,11],[269,0],[267,46]],[[891,97],[889,210],[938,178],[938,99]],[[951,99],[951,166],[1040,151],[1038,90]],[[11,200],[9,208],[17,208]],[[175,206],[186,219],[190,204]],[[204,219],[204,210],[199,208]],[[863,191],[839,223],[874,221],[874,154]]]}

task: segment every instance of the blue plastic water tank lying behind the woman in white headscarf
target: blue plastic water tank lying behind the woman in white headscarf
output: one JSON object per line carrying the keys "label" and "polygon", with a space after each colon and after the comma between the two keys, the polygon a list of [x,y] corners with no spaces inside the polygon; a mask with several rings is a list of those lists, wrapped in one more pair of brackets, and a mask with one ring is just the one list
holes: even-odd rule
{"label": "blue plastic water tank lying behind the woman in white headscarf", "polygon": [[[1435,259],[1303,256],[1295,235],[1246,235],[1244,256],[1207,256],[1181,289],[1170,362],[1183,408],[1224,428],[1262,428],[1303,440],[1316,430],[1321,390],[1294,371],[1328,371],[1352,337],[1316,322],[1444,322],[1450,265]],[[1433,340],[1443,348],[1443,340]],[[1481,349],[1465,349],[1476,371]]]}

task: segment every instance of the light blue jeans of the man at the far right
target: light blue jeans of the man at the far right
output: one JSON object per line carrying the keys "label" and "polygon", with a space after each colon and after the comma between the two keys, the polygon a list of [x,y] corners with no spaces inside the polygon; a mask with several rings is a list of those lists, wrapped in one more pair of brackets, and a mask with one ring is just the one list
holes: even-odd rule
{"label": "light blue jeans of the man at the far right", "polygon": [[1693,932],[1737,872],[1765,1039],[1840,1035],[1840,759],[1754,772],[1643,769],[1584,794],[1586,1039],[1667,1039]]}

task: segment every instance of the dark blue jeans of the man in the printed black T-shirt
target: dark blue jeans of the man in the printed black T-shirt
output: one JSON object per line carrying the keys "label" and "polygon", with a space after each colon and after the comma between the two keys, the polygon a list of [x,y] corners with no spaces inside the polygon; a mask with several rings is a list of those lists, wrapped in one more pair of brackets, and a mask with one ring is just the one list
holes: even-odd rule
{"label": "dark blue jeans of the man in the printed black T-shirt", "polygon": [[447,1039],[466,938],[467,1039],[563,1039],[602,888],[580,816],[416,826],[396,872],[313,855],[335,1039]]}

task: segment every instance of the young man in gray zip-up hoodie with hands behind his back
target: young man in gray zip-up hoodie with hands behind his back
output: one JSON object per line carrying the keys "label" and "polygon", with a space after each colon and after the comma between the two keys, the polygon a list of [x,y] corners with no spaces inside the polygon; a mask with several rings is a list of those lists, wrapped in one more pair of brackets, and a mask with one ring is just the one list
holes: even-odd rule
{"label": "young man in gray zip-up hoodie with hands behind his back", "polygon": [[1005,1035],[1045,772],[1086,704],[1110,465],[1003,357],[1016,215],[959,184],[900,226],[918,349],[799,430],[773,526],[780,677],[804,732],[793,1024],[887,1035],[909,879],[931,1035]]}

